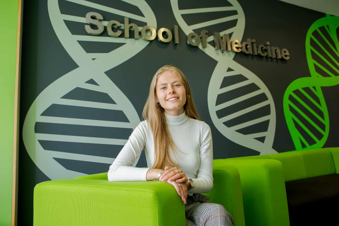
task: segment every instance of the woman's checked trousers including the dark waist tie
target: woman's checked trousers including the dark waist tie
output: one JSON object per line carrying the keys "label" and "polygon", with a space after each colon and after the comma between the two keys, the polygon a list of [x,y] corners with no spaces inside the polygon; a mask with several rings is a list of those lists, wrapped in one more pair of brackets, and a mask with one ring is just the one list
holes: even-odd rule
{"label": "woman's checked trousers including the dark waist tie", "polygon": [[185,205],[186,226],[233,226],[233,217],[203,194],[188,193]]}

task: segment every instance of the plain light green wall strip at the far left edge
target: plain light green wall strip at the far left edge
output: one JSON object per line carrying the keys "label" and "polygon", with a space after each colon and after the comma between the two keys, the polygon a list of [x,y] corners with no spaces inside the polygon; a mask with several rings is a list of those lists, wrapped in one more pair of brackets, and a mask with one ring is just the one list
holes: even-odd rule
{"label": "plain light green wall strip at the far left edge", "polygon": [[0,226],[11,223],[18,0],[0,0]]}

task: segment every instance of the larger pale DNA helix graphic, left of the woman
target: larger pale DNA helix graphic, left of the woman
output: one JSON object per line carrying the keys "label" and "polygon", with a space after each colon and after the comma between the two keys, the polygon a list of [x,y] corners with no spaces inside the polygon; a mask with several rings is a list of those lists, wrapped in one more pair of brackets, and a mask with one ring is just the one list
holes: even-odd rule
{"label": "larger pale DNA helix graphic, left of the woman", "polygon": [[[79,6],[88,6],[142,21],[156,29],[154,13],[144,0],[124,1],[138,7],[144,17],[86,0],[68,0]],[[142,39],[72,34],[65,21],[83,23],[81,26],[84,27],[87,24],[85,15],[78,17],[62,14],[59,3],[58,0],[48,0],[49,17],[57,37],[79,67],[60,77],[36,97],[23,127],[23,140],[28,154],[36,166],[52,180],[87,174],[76,169],[67,169],[59,163],[60,161],[76,160],[98,164],[111,164],[114,161],[114,158],[100,154],[102,151],[100,148],[105,145],[123,146],[131,134],[131,129],[134,129],[140,120],[130,100],[104,72],[129,60],[149,43]],[[106,26],[107,21],[102,21],[102,24]],[[123,24],[122,29],[124,29]],[[115,42],[124,45],[109,53],[93,54],[87,53],[78,41]],[[95,58],[96,60],[92,60]],[[95,101],[91,97],[86,99],[81,95],[78,99],[68,97],[70,93],[79,91],[80,94],[96,92],[110,101]],[[54,116],[53,112],[57,108],[62,110],[62,114]],[[69,116],[72,109],[76,109],[80,114]],[[102,111],[108,111],[109,114],[106,115],[115,115],[119,119],[104,117],[104,114],[100,114]],[[92,114],[91,112],[95,112],[95,119],[93,116],[86,116]],[[88,133],[90,130],[94,130],[95,134]],[[112,131],[116,137],[107,135]],[[81,150],[78,152],[61,150],[64,145],[76,146],[77,144],[88,147],[94,145],[93,147],[98,150],[92,150],[92,154],[84,154]],[[93,154],[93,151],[98,153]]]}

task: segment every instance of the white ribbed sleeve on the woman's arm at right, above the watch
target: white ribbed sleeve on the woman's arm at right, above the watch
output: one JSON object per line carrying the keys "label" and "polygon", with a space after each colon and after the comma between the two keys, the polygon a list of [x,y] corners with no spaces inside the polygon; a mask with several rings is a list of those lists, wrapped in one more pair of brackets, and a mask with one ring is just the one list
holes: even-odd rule
{"label": "white ribbed sleeve on the woman's arm at right, above the watch", "polygon": [[213,143],[209,126],[203,123],[200,145],[200,167],[198,178],[192,179],[195,187],[191,193],[208,193],[213,188]]}

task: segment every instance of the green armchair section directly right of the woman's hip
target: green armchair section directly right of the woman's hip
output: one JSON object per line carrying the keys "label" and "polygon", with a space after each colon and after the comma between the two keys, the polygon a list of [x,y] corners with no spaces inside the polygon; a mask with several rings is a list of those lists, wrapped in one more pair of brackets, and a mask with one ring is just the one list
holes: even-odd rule
{"label": "green armchair section directly right of the woman's hip", "polygon": [[234,226],[245,226],[240,176],[236,167],[230,165],[213,167],[213,188],[205,194],[212,203],[218,203],[233,216]]}

